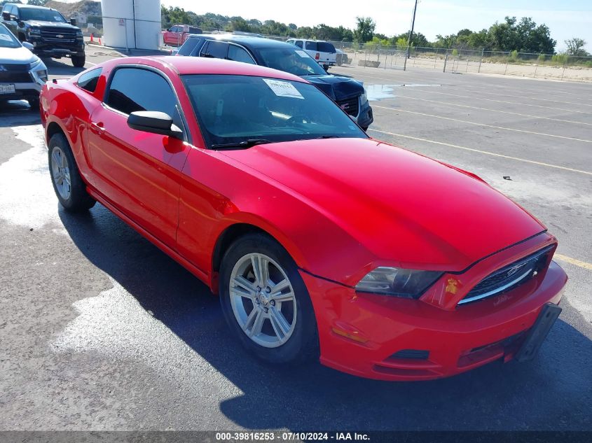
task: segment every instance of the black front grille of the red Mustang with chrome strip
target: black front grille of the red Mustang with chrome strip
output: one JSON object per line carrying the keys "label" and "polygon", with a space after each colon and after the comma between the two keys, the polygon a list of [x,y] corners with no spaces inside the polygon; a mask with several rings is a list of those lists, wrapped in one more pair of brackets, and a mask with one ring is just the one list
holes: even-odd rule
{"label": "black front grille of the red Mustang with chrome strip", "polygon": [[529,281],[545,265],[552,248],[543,248],[486,276],[458,304],[498,295]]}

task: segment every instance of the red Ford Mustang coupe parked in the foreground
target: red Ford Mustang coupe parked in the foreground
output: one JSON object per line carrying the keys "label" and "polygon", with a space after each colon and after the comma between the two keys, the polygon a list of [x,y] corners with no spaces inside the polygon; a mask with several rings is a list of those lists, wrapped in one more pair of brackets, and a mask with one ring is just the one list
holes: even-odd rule
{"label": "red Ford Mustang coupe parked in the foreground", "polygon": [[218,293],[269,362],[433,379],[534,356],[556,239],[479,177],[371,139],[261,66],[122,58],[48,83],[57,198],[101,202]]}

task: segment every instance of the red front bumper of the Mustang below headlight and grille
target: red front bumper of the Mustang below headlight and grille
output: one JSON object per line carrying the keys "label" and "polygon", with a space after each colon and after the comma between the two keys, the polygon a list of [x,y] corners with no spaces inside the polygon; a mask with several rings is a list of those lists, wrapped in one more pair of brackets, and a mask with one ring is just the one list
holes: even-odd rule
{"label": "red front bumper of the Mustang below headlight and grille", "polygon": [[[563,269],[551,262],[538,279],[448,311],[421,300],[359,294],[301,275],[315,307],[321,363],[383,380],[437,379],[511,360],[544,305],[559,303],[567,281]],[[409,356],[400,353],[408,350],[424,351],[427,358],[417,358],[418,353],[400,358]]]}

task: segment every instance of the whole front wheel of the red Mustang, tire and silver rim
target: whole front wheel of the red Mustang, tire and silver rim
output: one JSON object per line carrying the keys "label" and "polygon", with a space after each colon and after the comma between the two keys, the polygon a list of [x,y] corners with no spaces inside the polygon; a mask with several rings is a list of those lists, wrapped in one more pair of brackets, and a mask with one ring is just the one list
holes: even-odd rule
{"label": "whole front wheel of the red Mustang, tire and silver rim", "polygon": [[243,346],[268,363],[318,358],[315,312],[298,267],[264,234],[247,234],[223,257],[220,302]]}

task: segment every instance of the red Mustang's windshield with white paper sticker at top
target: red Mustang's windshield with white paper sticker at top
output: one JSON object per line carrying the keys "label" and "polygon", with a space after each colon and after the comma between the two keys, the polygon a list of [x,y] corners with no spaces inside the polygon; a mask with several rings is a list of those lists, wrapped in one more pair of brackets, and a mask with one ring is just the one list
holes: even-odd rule
{"label": "red Mustang's windshield with white paper sticker at top", "polygon": [[182,78],[210,148],[249,147],[256,144],[252,141],[367,138],[309,83],[234,75]]}

